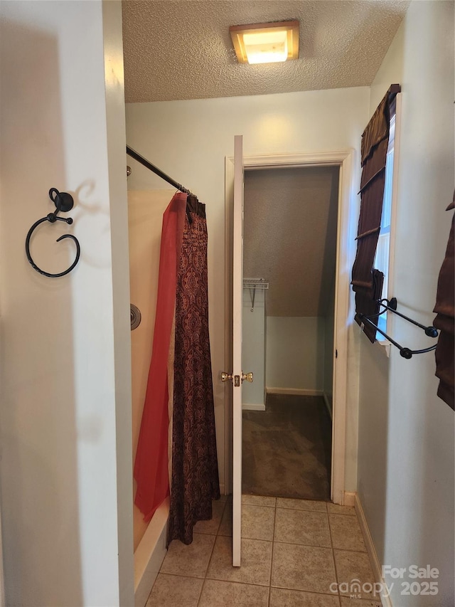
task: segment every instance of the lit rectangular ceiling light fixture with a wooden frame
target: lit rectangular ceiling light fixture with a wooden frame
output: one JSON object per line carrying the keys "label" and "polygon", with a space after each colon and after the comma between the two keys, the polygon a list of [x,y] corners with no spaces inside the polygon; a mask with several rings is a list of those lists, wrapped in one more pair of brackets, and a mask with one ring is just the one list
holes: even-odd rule
{"label": "lit rectangular ceiling light fixture with a wooden frame", "polygon": [[275,63],[299,58],[299,21],[252,23],[229,28],[239,63]]}

